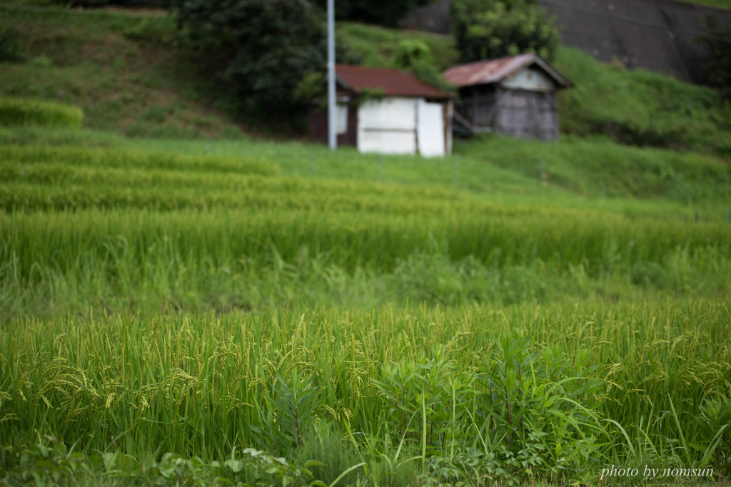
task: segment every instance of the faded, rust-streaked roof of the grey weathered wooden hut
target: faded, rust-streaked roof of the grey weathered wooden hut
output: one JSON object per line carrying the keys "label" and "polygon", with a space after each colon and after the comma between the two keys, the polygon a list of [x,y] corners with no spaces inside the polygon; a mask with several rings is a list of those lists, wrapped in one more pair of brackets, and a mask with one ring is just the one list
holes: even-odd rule
{"label": "faded, rust-streaked roof of the grey weathered wooden hut", "polygon": [[460,64],[459,66],[450,67],[442,75],[445,80],[459,87],[485,85],[499,83],[515,72],[520,71],[520,69],[530,67],[534,64],[553,78],[559,88],[570,88],[573,86],[568,78],[558,72],[558,69],[534,53]]}

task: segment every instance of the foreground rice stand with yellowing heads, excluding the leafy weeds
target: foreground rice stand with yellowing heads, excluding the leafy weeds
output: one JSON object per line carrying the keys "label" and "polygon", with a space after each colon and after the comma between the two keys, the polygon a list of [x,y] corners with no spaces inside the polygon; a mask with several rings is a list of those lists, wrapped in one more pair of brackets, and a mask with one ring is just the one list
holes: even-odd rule
{"label": "foreground rice stand with yellowing heads, excluding the leafy weeds", "polygon": [[[686,456],[698,461],[700,453],[682,451],[683,445],[671,442],[678,437],[675,429],[681,428],[687,444],[705,448],[712,436],[701,427],[700,410],[730,392],[731,357],[724,346],[728,330],[728,310],[718,301],[685,301],[680,309],[676,303],[654,301],[598,309],[518,305],[394,312],[385,307],[355,313],[92,313],[23,320],[0,332],[0,437],[5,443],[31,443],[34,431],[48,431],[77,442],[80,450],[116,447],[146,456],[159,448],[208,459],[227,458],[234,445],[270,448],[271,434],[281,448],[286,437],[270,429],[264,414],[271,407],[267,398],[277,388],[281,396],[279,383],[298,386],[298,379],[281,379],[297,370],[298,377],[312,381],[306,387],[316,394],[308,399],[314,401],[315,416],[303,419],[303,434],[320,421],[341,434],[398,439],[397,429],[384,430],[393,414],[377,385],[388,380],[384,364],[444,360],[451,364],[450,377],[466,380],[484,372],[484,363],[501,360],[504,351],[494,337],[511,331],[534,343],[529,348],[523,344],[520,353],[541,354],[550,347],[563,351],[561,360],[569,367],[598,367],[585,376],[603,380],[596,391],[605,397],[597,419],[612,420],[630,438],[643,439],[632,445],[635,453],[643,449],[661,464],[680,464]],[[433,355],[440,347],[441,359]],[[529,373],[532,366],[525,367]],[[450,396],[446,382],[434,387],[432,393]],[[487,390],[488,383],[473,387]],[[454,407],[469,410],[475,400],[466,396]],[[449,409],[448,415],[456,414]],[[281,406],[277,410],[284,414]],[[645,421],[638,424],[637,418]],[[469,415],[459,419],[464,431],[475,420]],[[417,426],[414,431],[423,430]],[[599,460],[628,459],[633,450],[624,445],[619,429],[597,431],[607,435]],[[411,438],[406,437],[408,442]],[[288,448],[296,449],[295,443]],[[440,451],[448,456],[447,450]]]}

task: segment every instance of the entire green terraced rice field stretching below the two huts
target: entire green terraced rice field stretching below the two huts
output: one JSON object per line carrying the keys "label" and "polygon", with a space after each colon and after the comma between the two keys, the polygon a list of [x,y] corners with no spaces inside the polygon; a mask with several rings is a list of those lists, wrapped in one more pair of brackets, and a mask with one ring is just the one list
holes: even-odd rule
{"label": "entire green terraced rice field stretching below the two huts", "polygon": [[0,146],[0,483],[728,483],[723,165],[163,146]]}

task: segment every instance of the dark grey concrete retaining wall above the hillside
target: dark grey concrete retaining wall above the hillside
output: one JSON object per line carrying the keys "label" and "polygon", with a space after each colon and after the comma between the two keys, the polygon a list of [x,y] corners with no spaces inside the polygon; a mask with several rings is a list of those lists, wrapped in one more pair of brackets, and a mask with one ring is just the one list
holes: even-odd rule
{"label": "dark grey concrete retaining wall above the hillside", "polygon": [[[556,17],[561,44],[579,48],[599,61],[620,61],[702,83],[705,46],[697,37],[707,15],[731,25],[728,10],[673,0],[539,0]],[[449,32],[451,1],[438,0],[404,19],[411,29]],[[446,12],[446,13],[445,13]],[[731,44],[730,44],[731,52]]]}

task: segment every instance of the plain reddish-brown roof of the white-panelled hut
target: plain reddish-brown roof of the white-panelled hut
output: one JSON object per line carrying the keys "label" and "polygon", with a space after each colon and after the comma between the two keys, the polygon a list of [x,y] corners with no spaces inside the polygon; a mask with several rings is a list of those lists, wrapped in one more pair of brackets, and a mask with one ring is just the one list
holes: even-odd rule
{"label": "plain reddish-brown roof of the white-panelled hut", "polygon": [[398,69],[368,68],[360,66],[336,65],[338,83],[355,93],[363,93],[366,89],[383,90],[390,97],[428,97],[448,98],[439,88],[423,83],[410,72]]}

